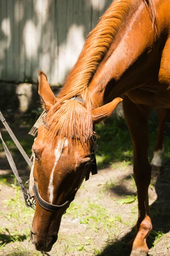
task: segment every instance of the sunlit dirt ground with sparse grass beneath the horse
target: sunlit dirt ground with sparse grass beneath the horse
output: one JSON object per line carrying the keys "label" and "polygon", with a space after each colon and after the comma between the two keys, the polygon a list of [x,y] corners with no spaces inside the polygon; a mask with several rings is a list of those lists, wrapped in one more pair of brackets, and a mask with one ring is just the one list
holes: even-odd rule
{"label": "sunlit dirt ground with sparse grass beneath the horse", "polygon": [[[14,159],[21,178],[28,180],[24,161]],[[169,169],[170,160],[164,160],[161,168],[152,170],[149,204],[153,231],[147,238],[148,255],[170,255]],[[49,253],[37,252],[29,239],[34,211],[25,207],[11,174],[4,152],[0,152],[0,256],[130,256],[126,243],[133,239],[138,217],[131,165],[115,163],[83,182]]]}

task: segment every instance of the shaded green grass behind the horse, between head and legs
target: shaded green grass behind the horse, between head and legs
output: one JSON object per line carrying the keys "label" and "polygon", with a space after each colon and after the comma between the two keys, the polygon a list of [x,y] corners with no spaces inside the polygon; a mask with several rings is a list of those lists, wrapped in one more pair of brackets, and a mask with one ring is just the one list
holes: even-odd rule
{"label": "shaded green grass behind the horse, between head and legs", "polygon": [[[149,120],[149,160],[153,157],[153,148],[156,144],[157,122]],[[123,166],[133,164],[133,146],[130,133],[127,128],[125,119],[107,119],[105,125],[96,125],[96,131],[99,135],[97,140],[99,151],[96,153],[96,160],[99,168],[108,165],[114,167],[115,163],[121,163]],[[170,136],[165,131],[164,134],[164,159],[170,157]]]}

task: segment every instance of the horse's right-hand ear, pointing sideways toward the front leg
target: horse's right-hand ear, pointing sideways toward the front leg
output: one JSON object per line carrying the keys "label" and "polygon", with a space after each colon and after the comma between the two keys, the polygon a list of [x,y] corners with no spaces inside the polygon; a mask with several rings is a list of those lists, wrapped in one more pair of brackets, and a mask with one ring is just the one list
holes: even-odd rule
{"label": "horse's right-hand ear, pointing sideways toward the front leg", "polygon": [[116,106],[122,101],[121,98],[113,99],[112,102],[109,102],[106,105],[103,105],[102,107],[96,108],[92,111],[92,118],[93,123],[99,123],[102,120],[108,118],[111,116],[113,110],[116,108]]}

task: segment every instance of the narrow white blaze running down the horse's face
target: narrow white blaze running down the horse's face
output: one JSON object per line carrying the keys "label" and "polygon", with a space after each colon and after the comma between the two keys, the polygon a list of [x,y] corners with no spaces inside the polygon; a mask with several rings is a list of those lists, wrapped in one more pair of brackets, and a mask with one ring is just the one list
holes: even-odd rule
{"label": "narrow white blaze running down the horse's face", "polygon": [[[64,145],[63,145],[64,144]],[[61,147],[60,147],[61,145]],[[61,152],[62,152],[62,148],[63,146],[66,147],[68,145],[68,140],[64,140],[64,141],[59,141],[58,145],[57,145],[57,148],[55,149],[55,163],[54,163],[54,167],[51,171],[51,176],[50,176],[50,182],[49,182],[49,186],[48,186],[48,192],[50,194],[50,203],[52,204],[53,202],[53,191],[54,191],[54,188],[53,188],[53,177],[54,177],[54,170],[57,166],[57,162],[59,160],[59,158],[61,157]]]}

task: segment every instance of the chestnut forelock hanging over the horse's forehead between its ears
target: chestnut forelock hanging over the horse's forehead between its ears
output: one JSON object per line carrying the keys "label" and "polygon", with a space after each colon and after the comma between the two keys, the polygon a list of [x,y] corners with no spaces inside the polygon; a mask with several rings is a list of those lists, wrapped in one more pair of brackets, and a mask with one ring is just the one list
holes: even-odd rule
{"label": "chestnut forelock hanging over the horse's forehead between its ears", "polygon": [[58,141],[68,140],[68,149],[74,150],[77,142],[86,145],[93,135],[91,107],[72,99],[57,103],[48,112],[46,119],[47,140],[56,147]]}

